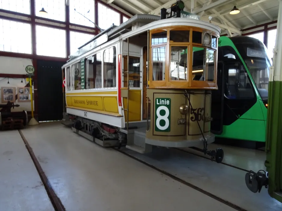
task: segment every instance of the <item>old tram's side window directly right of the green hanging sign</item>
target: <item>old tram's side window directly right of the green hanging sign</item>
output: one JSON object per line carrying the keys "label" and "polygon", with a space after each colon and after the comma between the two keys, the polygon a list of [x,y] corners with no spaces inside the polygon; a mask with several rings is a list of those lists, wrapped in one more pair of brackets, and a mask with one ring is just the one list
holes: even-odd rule
{"label": "old tram's side window directly right of the green hanging sign", "polygon": [[102,59],[97,53],[86,61],[85,89],[102,88]]}

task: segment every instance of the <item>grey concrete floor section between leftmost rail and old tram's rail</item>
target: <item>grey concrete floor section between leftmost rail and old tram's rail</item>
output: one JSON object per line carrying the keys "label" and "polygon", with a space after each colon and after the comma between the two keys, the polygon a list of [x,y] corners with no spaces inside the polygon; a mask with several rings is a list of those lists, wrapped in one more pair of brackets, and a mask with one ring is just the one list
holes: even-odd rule
{"label": "grey concrete floor section between leftmost rail and old tram's rail", "polygon": [[[60,123],[41,123],[22,132],[67,211],[234,211],[120,152],[91,143]],[[19,172],[29,173],[23,168]],[[15,200],[10,192],[7,197]]]}

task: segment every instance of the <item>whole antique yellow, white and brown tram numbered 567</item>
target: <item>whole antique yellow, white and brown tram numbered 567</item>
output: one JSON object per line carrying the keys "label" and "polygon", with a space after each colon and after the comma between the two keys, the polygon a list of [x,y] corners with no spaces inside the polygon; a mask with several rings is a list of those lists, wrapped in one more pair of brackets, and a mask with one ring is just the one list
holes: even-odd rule
{"label": "whole antique yellow, white and brown tram numbered 567", "polygon": [[179,2],[170,14],[162,9],[161,17],[135,15],[112,26],[69,57],[62,68],[74,132],[140,153],[201,147],[222,160],[221,149],[207,151],[220,29]]}

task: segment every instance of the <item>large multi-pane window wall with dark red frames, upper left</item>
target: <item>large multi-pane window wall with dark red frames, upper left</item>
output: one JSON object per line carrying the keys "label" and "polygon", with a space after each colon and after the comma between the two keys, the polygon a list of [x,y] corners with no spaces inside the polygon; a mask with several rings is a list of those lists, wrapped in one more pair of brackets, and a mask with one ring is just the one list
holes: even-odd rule
{"label": "large multi-pane window wall with dark red frames, upper left", "polygon": [[[48,13],[39,13],[42,8]],[[56,60],[99,33],[95,24],[106,29],[130,15],[98,0],[0,0],[0,12],[1,56]]]}

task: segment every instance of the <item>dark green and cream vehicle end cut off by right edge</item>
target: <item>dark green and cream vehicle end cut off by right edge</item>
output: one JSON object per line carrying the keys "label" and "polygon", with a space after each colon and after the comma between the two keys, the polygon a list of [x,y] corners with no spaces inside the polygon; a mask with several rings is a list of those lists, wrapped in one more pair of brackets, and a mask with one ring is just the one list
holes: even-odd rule
{"label": "dark green and cream vehicle end cut off by right edge", "polygon": [[273,66],[269,71],[266,126],[268,194],[282,203],[282,1],[279,0]]}

